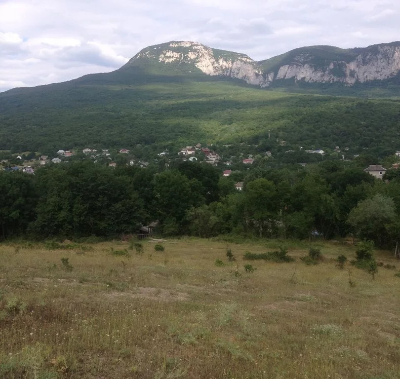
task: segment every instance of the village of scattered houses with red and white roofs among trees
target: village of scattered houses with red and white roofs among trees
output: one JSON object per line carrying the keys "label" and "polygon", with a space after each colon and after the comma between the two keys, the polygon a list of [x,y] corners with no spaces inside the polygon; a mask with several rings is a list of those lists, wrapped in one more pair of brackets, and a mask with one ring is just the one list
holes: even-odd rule
{"label": "village of scattered houses with red and white roofs among trees", "polygon": [[[280,147],[286,146],[286,141],[277,140]],[[257,145],[248,145],[241,143],[240,146],[246,147],[257,147]],[[223,145],[223,148],[228,149],[233,145]],[[190,161],[190,162],[205,162],[212,166],[215,166],[221,170],[221,175],[224,177],[231,176],[234,172],[241,172],[248,169],[254,162],[261,160],[273,159],[271,151],[263,152],[262,154],[245,154],[240,152],[239,155],[229,155],[228,157],[224,154],[216,152],[219,148],[214,149],[212,144],[206,144],[202,146],[200,143],[194,146],[186,146],[179,148],[178,151],[171,153],[168,149],[161,152],[157,152],[153,159],[137,158],[132,150],[121,148],[121,149],[91,149],[84,148],[82,150],[63,150],[59,149],[54,152],[53,155],[41,155],[35,153],[20,153],[10,154],[8,159],[0,160],[0,170],[6,171],[22,171],[26,174],[35,174],[35,170],[46,164],[65,164],[71,161],[78,160],[91,160],[94,163],[100,163],[107,165],[110,168],[115,168],[119,165],[130,165],[138,167],[148,167],[152,164],[160,164],[160,162],[167,168],[170,162],[173,160]],[[302,147],[298,151],[303,151],[311,155],[318,155],[323,157],[326,152],[322,149],[306,150]],[[295,153],[295,150],[282,151],[284,155]],[[349,148],[345,147],[340,149],[339,146],[335,146],[335,149],[330,152],[330,155],[343,161],[351,161],[351,156],[348,154]],[[282,155],[281,153],[281,155]],[[346,153],[346,155],[345,155]],[[226,155],[226,154],[225,154]],[[360,154],[353,154],[353,158],[357,158]],[[395,158],[400,159],[400,151],[394,153]],[[396,159],[395,159],[396,160]],[[393,161],[393,159],[392,159]],[[299,162],[299,165],[305,167],[308,163]],[[390,169],[398,169],[400,162],[392,162]],[[385,167],[379,164],[369,164],[364,169],[365,172],[374,176],[375,178],[382,179],[383,175],[387,171]],[[236,189],[243,189],[243,182],[239,181],[236,183]]]}

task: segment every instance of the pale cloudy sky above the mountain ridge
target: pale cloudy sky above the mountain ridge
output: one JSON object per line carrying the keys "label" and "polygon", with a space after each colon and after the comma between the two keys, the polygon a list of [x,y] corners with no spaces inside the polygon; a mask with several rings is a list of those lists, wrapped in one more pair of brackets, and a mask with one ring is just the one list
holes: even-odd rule
{"label": "pale cloudy sky above the mountain ridge", "polygon": [[0,0],[0,91],[113,71],[170,40],[267,59],[400,40],[399,0]]}

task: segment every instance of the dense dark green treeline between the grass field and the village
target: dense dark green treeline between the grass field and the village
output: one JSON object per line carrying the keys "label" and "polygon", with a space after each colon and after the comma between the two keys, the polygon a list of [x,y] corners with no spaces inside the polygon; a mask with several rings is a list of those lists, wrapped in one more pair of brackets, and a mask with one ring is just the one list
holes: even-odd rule
{"label": "dense dark green treeline between the grass field and the village", "polygon": [[162,235],[328,239],[354,233],[378,246],[400,235],[399,175],[385,183],[340,161],[259,165],[240,175],[243,190],[197,162],[177,161],[163,171],[89,161],[48,165],[32,176],[2,171],[0,235],[109,238],[153,221]]}

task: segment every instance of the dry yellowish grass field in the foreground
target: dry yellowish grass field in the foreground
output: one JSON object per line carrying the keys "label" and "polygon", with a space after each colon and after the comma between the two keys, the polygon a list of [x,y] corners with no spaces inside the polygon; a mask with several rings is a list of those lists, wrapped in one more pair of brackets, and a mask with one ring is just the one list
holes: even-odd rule
{"label": "dry yellowish grass field in the foreground", "polygon": [[[244,261],[279,243],[0,245],[0,378],[400,378],[400,262],[315,243],[319,265]],[[127,250],[125,250],[127,249]],[[128,252],[129,256],[125,253]],[[67,260],[68,259],[68,260]],[[224,265],[215,265],[219,259]],[[254,272],[246,272],[251,264]],[[349,284],[350,279],[353,282]]]}

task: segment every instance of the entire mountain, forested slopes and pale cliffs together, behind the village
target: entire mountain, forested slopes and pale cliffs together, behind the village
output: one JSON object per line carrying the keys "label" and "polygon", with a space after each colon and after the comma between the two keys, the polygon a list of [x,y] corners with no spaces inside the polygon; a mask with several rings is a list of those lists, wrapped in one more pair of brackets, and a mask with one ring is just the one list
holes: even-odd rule
{"label": "entire mountain, forested slopes and pale cliffs together, behind the village", "polygon": [[258,143],[271,130],[294,145],[387,152],[400,148],[395,99],[289,92],[399,98],[399,51],[311,46],[256,62],[198,42],[150,46],[112,73],[0,93],[0,150]]}

